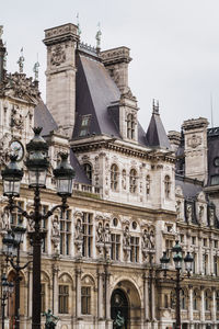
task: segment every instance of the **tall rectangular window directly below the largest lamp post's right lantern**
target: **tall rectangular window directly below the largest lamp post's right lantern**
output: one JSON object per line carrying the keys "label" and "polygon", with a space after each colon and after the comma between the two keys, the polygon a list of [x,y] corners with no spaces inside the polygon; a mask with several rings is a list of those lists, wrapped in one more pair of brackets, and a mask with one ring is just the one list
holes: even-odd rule
{"label": "tall rectangular window directly below the largest lamp post's right lantern", "polygon": [[71,211],[60,213],[60,254],[68,256],[70,253],[71,242]]}

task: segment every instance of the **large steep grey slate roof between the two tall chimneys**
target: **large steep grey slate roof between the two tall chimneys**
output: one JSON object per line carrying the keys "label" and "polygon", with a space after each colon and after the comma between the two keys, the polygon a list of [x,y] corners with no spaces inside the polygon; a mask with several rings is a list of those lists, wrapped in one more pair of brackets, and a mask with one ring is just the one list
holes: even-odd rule
{"label": "large steep grey slate roof between the two tall chimneys", "polygon": [[[73,138],[80,138],[81,120],[91,115],[88,134],[108,135],[122,139],[119,133],[120,91],[99,58],[77,55],[76,125]],[[147,145],[146,134],[138,123],[138,141]]]}

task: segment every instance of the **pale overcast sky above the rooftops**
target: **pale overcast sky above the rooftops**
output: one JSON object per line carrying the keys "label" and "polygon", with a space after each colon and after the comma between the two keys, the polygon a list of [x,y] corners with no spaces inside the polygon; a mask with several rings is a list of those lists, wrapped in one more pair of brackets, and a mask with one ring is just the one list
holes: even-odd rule
{"label": "pale overcast sky above the rooftops", "polygon": [[[24,48],[27,76],[41,64],[45,98],[44,30],[72,22],[79,12],[81,39],[95,45],[101,22],[102,49],[130,48],[129,86],[137,97],[139,121],[147,128],[152,99],[160,102],[166,131],[204,116],[219,126],[218,0],[1,0],[0,24],[8,46],[8,70],[18,70]],[[212,95],[212,97],[211,97]]]}

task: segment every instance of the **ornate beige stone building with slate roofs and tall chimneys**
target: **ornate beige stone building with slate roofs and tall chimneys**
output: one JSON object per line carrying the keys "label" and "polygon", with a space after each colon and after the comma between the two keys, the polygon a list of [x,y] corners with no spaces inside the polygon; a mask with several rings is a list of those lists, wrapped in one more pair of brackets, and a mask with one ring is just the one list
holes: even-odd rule
{"label": "ornate beige stone building with slate roofs and tall chimneys", "polygon": [[[2,35],[2,33],[0,33]],[[1,36],[2,37],[2,36]],[[206,118],[185,121],[182,132],[163,127],[153,102],[147,132],[128,86],[127,47],[101,52],[80,42],[71,23],[45,31],[46,104],[37,81],[5,70],[0,39],[0,167],[11,152],[24,167],[25,144],[43,126],[51,168],[42,191],[42,211],[59,202],[51,169],[59,152],[76,170],[69,209],[42,223],[42,311],[50,308],[58,328],[113,328],[118,310],[124,328],[169,328],[175,322],[174,283],[164,279],[160,258],[180,240],[194,256],[193,275],[182,282],[183,328],[219,325],[219,128]],[[97,44],[100,46],[100,44]],[[16,201],[32,211],[24,179]],[[32,223],[8,214],[0,185],[1,237],[19,220],[27,228],[22,262],[31,260]],[[1,271],[4,256],[1,247]],[[14,279],[8,266],[8,277]],[[32,268],[22,271],[21,328],[31,328]],[[14,296],[7,305],[13,327]],[[42,317],[42,321],[44,318]]]}

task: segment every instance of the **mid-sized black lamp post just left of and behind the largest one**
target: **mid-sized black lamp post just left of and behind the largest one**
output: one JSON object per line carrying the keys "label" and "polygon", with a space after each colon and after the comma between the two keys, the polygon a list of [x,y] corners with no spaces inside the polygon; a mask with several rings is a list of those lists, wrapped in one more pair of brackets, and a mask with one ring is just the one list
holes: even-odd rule
{"label": "mid-sized black lamp post just left of and behind the largest one", "polygon": [[15,329],[20,328],[20,272],[21,270],[24,270],[31,262],[28,261],[24,265],[20,265],[20,246],[23,243],[25,231],[26,229],[21,225],[21,223],[19,223],[18,226],[8,231],[7,236],[2,240],[3,246],[5,246],[4,253],[7,257],[7,262],[10,261],[15,271]]}

